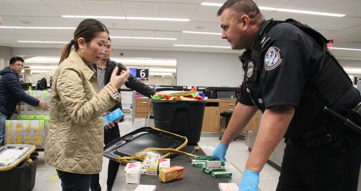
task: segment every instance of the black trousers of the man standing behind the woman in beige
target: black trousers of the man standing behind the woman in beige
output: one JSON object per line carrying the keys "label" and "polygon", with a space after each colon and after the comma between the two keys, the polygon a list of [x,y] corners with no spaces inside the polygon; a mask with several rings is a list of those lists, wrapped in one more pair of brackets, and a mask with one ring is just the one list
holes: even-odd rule
{"label": "black trousers of the man standing behind the woman in beige", "polygon": [[[113,128],[109,128],[107,131],[104,132],[104,143],[105,145],[109,144],[113,140],[120,137],[119,132],[119,126],[118,124],[115,124],[116,126]],[[108,163],[108,178],[107,178],[107,190],[111,191],[114,180],[116,179],[118,168],[120,163],[117,161],[109,160]],[[90,185],[91,191],[101,191],[102,187],[99,184],[99,174],[92,174],[91,177],[91,185]]]}

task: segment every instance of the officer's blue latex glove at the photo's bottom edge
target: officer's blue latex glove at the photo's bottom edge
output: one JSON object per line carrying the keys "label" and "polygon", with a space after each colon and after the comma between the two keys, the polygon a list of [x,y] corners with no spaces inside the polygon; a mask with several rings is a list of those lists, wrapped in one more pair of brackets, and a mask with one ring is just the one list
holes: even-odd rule
{"label": "officer's blue latex glove at the photo's bottom edge", "polygon": [[258,191],[259,173],[245,170],[238,191]]}

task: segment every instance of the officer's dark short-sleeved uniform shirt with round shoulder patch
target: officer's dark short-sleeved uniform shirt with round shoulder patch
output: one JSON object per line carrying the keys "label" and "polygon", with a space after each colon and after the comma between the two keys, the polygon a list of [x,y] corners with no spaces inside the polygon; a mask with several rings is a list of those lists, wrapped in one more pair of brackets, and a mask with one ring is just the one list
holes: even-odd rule
{"label": "officer's dark short-sleeved uniform shirt with round shoulder patch", "polygon": [[[255,43],[261,43],[258,63],[261,83],[251,89],[254,101],[257,105],[264,104],[264,109],[275,105],[298,107],[306,78],[322,59],[322,49],[310,36],[288,23],[272,27],[261,42],[257,41]],[[245,72],[244,75],[251,78],[255,73]],[[243,80],[239,101],[253,105],[244,83],[247,82]]]}

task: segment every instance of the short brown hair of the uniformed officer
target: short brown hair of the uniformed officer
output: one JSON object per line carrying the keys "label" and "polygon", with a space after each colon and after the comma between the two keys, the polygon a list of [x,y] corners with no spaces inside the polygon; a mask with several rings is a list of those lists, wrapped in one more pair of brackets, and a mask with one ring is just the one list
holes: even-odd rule
{"label": "short brown hair of the uniformed officer", "polygon": [[259,8],[252,0],[227,0],[217,12],[217,16],[220,16],[224,9],[230,8],[234,10],[237,15],[247,14],[249,18],[255,17],[257,14],[261,14]]}

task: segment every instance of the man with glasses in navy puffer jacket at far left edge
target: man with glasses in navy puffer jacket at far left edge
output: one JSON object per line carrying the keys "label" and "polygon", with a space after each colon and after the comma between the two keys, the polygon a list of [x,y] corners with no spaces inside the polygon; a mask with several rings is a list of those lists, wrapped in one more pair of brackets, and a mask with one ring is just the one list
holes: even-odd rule
{"label": "man with glasses in navy puffer jacket at far left edge", "polygon": [[50,107],[47,102],[39,101],[24,92],[18,77],[23,67],[24,60],[21,57],[13,57],[10,59],[10,65],[0,71],[0,146],[4,145],[5,121],[14,114],[19,101],[39,106],[45,111]]}

